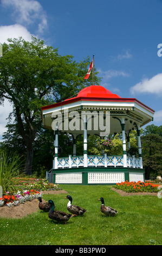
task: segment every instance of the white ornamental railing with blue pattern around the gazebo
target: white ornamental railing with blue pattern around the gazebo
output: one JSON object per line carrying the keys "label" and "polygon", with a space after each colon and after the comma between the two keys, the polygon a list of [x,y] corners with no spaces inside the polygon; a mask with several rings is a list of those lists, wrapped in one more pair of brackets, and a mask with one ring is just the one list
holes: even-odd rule
{"label": "white ornamental railing with blue pattern around the gazebo", "polygon": [[[88,155],[87,162],[83,156],[55,157],[55,169],[60,168],[79,168],[79,167],[123,167],[123,156]],[[140,158],[127,156],[127,167],[142,168]]]}

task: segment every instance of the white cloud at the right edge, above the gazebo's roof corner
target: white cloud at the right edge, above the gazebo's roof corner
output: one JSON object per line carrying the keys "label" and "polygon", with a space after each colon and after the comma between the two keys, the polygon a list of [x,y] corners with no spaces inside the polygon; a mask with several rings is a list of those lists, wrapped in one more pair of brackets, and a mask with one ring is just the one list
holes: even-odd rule
{"label": "white cloud at the right edge, above the gazebo's roof corner", "polygon": [[162,73],[152,78],[144,78],[141,82],[135,84],[130,89],[132,94],[135,93],[151,93],[162,96]]}

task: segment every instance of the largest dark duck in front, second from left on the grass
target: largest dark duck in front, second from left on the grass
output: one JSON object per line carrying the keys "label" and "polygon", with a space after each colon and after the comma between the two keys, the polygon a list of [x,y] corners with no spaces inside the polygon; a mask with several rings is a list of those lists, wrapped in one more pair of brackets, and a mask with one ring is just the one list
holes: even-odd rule
{"label": "largest dark duck in front, second from left on the grass", "polygon": [[69,218],[72,218],[74,216],[74,214],[67,214],[63,211],[55,211],[55,204],[53,200],[48,200],[48,203],[51,205],[51,208],[48,212],[48,217],[51,218],[51,220],[64,222],[65,224],[67,224]]}

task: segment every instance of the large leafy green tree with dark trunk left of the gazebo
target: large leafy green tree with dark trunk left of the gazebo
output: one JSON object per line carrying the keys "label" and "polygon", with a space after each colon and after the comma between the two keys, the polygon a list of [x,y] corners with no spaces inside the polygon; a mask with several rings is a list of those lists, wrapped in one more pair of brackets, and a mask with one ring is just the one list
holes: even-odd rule
{"label": "large leafy green tree with dark trunk left of the gazebo", "polygon": [[[88,81],[83,79],[90,61],[86,58],[77,63],[73,56],[60,56],[57,48],[36,38],[31,42],[22,38],[8,41],[0,59],[0,102],[8,99],[12,103],[12,117],[26,149],[24,172],[32,174],[41,107],[67,99],[92,84],[92,75]],[[99,83],[100,78],[95,77],[95,81]]]}

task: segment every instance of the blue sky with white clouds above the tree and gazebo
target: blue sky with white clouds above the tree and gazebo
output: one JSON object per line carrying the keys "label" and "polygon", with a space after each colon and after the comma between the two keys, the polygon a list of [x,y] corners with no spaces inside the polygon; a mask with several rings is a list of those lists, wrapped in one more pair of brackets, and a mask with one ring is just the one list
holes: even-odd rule
{"label": "blue sky with white clouds above the tree and gazebo", "polygon": [[[149,125],[158,126],[162,125],[161,28],[162,0],[0,0],[1,43],[19,36],[30,41],[34,35],[76,61],[94,54],[101,85],[154,109]],[[8,102],[0,106],[0,139],[10,109]]]}

